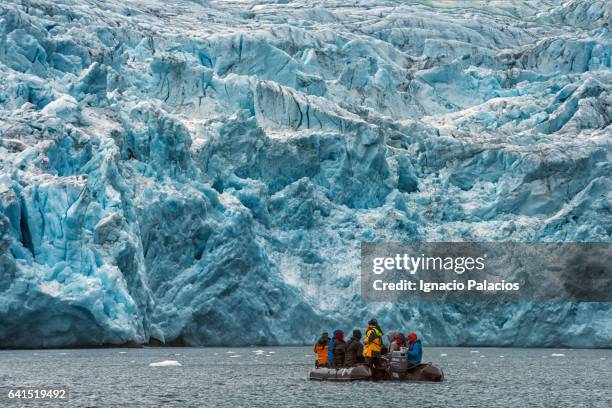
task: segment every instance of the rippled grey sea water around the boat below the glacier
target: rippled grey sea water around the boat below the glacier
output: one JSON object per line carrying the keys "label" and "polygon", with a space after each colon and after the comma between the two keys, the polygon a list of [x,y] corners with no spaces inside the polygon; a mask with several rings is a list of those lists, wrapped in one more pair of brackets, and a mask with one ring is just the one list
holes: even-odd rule
{"label": "rippled grey sea water around the boat below the glacier", "polygon": [[[151,367],[164,360],[181,366]],[[612,350],[425,348],[445,382],[308,380],[309,347],[0,351],[0,387],[68,387],[67,402],[0,406],[612,406]]]}

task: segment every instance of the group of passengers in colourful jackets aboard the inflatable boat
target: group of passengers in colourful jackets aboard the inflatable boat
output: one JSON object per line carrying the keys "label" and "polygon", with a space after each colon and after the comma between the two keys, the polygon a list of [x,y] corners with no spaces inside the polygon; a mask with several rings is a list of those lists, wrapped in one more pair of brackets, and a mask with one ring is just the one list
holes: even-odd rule
{"label": "group of passengers in colourful jackets aboard the inflatable boat", "polygon": [[314,345],[316,367],[353,367],[367,364],[370,367],[380,367],[381,357],[390,351],[403,351],[410,366],[421,363],[423,347],[416,333],[410,332],[405,337],[397,332],[392,335],[391,344],[387,347],[383,342],[383,331],[376,319],[368,322],[363,343],[361,330],[353,330],[348,341],[344,340],[344,332],[335,330],[332,337],[324,332]]}

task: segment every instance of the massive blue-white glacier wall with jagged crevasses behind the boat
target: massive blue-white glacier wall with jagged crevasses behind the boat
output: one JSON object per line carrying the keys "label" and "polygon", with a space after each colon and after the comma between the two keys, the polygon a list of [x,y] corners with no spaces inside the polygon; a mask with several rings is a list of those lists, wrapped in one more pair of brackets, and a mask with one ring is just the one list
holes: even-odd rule
{"label": "massive blue-white glacier wall with jagged crevasses behind the boat", "polygon": [[610,303],[365,303],[361,242],[612,240],[604,0],[0,0],[0,347],[611,347]]}

